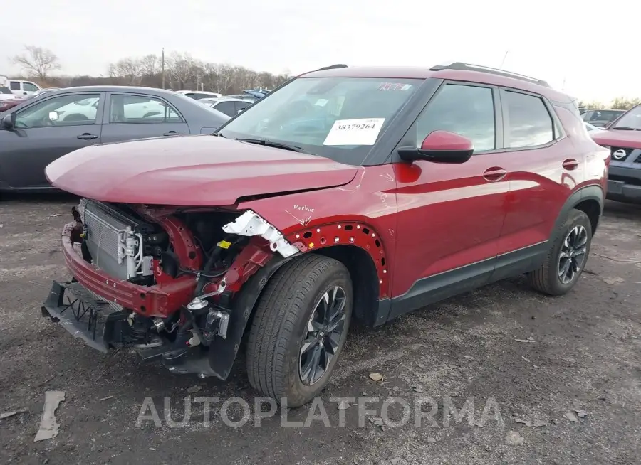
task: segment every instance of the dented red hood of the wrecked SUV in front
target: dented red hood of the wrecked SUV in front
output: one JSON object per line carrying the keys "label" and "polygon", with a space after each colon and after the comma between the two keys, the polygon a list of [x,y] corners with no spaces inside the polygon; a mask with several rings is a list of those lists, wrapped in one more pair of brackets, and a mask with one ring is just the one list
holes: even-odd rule
{"label": "dented red hood of the wrecked SUV in front", "polygon": [[98,144],[46,167],[48,181],[116,203],[234,205],[239,198],[343,186],[358,167],[207,135]]}

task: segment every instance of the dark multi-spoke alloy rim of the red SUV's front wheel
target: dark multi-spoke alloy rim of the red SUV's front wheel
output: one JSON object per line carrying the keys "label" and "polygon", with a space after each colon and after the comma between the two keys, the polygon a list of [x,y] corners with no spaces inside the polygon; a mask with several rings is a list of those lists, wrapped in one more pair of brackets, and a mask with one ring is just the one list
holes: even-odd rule
{"label": "dark multi-spoke alloy rim of the red SUV's front wheel", "polygon": [[311,386],[323,378],[338,351],[345,330],[345,290],[329,289],[316,304],[301,342],[298,374],[304,385]]}

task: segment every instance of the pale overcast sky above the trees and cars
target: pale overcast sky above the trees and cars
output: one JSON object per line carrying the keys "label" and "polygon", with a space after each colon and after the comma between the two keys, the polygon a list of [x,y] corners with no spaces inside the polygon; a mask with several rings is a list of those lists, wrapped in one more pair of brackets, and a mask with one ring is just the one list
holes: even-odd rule
{"label": "pale overcast sky above the trees and cars", "polygon": [[[641,97],[641,1],[31,0],[0,14],[0,75],[24,45],[67,74],[172,50],[271,73],[333,63],[460,60],[547,80],[584,100]],[[633,35],[634,34],[634,35]],[[506,56],[507,53],[507,56]]]}

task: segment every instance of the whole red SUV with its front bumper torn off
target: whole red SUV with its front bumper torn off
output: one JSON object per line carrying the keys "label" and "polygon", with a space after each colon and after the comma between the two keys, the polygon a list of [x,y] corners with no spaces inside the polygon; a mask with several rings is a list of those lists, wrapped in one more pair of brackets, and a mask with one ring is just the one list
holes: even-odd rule
{"label": "whole red SUV with its front bumper torn off", "polygon": [[463,63],[336,65],[212,135],[95,145],[46,169],[82,197],[71,282],[43,305],[101,351],[257,390],[322,390],[352,319],[378,326],[526,274],[566,294],[603,210],[610,152],[570,97]]}

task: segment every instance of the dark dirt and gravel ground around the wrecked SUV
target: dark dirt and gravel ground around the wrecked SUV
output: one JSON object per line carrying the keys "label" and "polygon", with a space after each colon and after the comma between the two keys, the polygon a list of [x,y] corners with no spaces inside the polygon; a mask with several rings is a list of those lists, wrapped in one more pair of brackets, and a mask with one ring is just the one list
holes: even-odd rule
{"label": "dark dirt and gravel ground around the wrecked SUV", "polygon": [[[0,412],[25,410],[0,419],[3,462],[640,461],[641,208],[608,204],[587,269],[568,296],[546,298],[512,279],[382,328],[353,328],[338,372],[314,410],[279,410],[259,427],[254,415],[231,427],[242,423],[241,400],[221,412],[225,400],[241,397],[250,415],[256,412],[257,394],[241,363],[227,383],[170,375],[160,366],[141,365],[133,353],[103,356],[41,317],[51,280],[66,277],[58,230],[73,203],[53,196],[0,202]],[[370,379],[371,373],[380,373],[383,382]],[[47,390],[66,393],[56,410],[60,430],[54,439],[34,442]],[[196,397],[214,396],[220,403],[212,404],[207,421]],[[355,400],[339,409],[330,398],[340,396]],[[426,396],[435,407],[427,403],[423,410],[437,409],[434,424],[426,417],[417,427],[415,402]],[[151,420],[136,425],[147,397],[160,416],[158,427]],[[184,424],[167,421],[165,397],[174,422],[183,417],[185,398],[190,402]],[[409,421],[402,421],[400,400],[385,411],[388,397],[407,402]],[[371,402],[366,407],[374,411],[362,426],[363,408],[354,405],[359,400]],[[457,412],[444,415],[449,405],[462,415],[466,400],[474,402],[471,422]],[[329,427],[320,415],[323,407]],[[152,410],[145,412],[151,417]],[[321,419],[301,427],[314,412]],[[385,426],[387,419],[401,426]]]}

